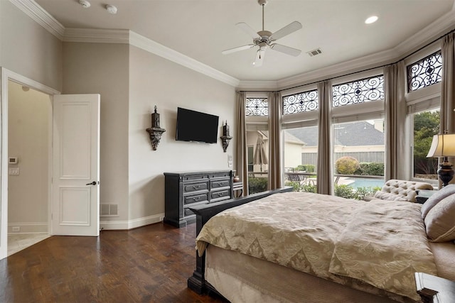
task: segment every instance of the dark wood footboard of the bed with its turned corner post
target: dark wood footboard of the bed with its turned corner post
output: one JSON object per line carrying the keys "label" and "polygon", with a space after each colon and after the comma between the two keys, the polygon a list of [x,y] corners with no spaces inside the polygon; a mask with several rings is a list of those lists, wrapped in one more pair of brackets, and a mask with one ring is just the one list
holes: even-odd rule
{"label": "dark wood footboard of the bed with its turned corner post", "polygon": [[[193,206],[191,207],[191,211],[196,214],[196,235],[199,234],[200,230],[204,226],[204,224],[215,214],[224,211],[225,209],[230,209],[235,206],[239,206],[242,204],[246,204],[257,199],[262,199],[264,197],[268,197],[271,194],[277,194],[280,192],[292,192],[293,187],[282,187],[279,189],[269,190],[267,192],[259,192],[257,194],[250,194],[247,197],[240,197],[235,199],[229,199],[222,202],[215,202],[200,206]],[[208,291],[214,291],[212,287],[208,283],[205,282],[204,277],[205,272],[205,253],[202,257],[198,256],[196,252],[196,270],[194,270],[193,275],[188,278],[188,288],[197,292],[198,294],[203,294]]]}

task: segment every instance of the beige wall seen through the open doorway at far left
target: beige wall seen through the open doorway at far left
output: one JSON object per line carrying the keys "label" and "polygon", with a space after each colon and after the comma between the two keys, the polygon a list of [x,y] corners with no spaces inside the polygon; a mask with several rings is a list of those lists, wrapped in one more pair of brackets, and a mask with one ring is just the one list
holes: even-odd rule
{"label": "beige wall seen through the open doorway at far left", "polygon": [[11,81],[8,96],[8,153],[18,158],[9,167],[19,169],[8,178],[8,232],[47,232],[50,97]]}

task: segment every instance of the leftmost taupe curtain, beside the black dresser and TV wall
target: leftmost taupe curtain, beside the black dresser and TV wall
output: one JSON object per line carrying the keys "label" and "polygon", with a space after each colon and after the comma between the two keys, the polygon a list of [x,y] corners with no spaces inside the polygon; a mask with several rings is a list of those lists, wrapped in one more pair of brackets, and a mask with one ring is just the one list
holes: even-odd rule
{"label": "leftmost taupe curtain, beside the black dresser and TV wall", "polygon": [[247,97],[245,92],[237,92],[237,138],[235,148],[235,170],[243,182],[243,196],[248,195],[248,163],[247,163],[247,128],[245,122],[245,104]]}

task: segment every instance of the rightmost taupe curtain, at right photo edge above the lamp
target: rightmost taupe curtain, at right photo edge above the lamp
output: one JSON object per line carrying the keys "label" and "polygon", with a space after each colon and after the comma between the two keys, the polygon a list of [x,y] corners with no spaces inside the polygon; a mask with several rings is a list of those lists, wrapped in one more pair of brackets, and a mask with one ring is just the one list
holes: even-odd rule
{"label": "rightmost taupe curtain, at right photo edge above the lamp", "polygon": [[455,33],[446,35],[442,41],[442,92],[441,92],[441,133],[455,133]]}

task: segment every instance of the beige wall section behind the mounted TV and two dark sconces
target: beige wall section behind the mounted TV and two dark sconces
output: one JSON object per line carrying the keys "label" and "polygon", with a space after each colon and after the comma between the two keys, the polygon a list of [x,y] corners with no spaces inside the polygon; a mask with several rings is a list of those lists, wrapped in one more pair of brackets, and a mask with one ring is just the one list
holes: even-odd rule
{"label": "beige wall section behind the mounted TV and two dark sconces", "polygon": [[[138,219],[164,214],[164,172],[232,169],[233,142],[224,153],[220,140],[207,144],[175,138],[177,107],[219,116],[218,136],[228,120],[235,135],[235,88],[134,46],[129,62],[129,219]],[[152,150],[146,128],[155,105],[166,132]]]}

